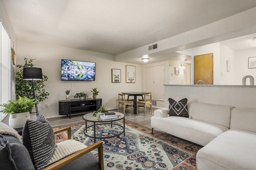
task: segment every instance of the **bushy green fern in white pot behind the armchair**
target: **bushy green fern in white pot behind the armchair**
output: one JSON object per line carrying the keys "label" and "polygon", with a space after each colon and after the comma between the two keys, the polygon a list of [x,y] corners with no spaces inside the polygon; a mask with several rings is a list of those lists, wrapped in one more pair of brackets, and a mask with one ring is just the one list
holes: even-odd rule
{"label": "bushy green fern in white pot behind the armchair", "polygon": [[8,103],[0,105],[3,109],[0,112],[10,115],[9,126],[20,128],[30,119],[29,112],[37,104],[36,99],[18,96],[17,100],[9,100]]}

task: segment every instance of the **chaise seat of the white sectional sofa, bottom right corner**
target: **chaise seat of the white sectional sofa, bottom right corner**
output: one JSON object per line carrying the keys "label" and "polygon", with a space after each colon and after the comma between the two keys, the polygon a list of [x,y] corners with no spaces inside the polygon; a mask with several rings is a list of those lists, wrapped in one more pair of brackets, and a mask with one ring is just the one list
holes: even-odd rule
{"label": "chaise seat of the white sectional sofa, bottom right corner", "polygon": [[201,148],[198,170],[255,170],[256,133],[230,129]]}

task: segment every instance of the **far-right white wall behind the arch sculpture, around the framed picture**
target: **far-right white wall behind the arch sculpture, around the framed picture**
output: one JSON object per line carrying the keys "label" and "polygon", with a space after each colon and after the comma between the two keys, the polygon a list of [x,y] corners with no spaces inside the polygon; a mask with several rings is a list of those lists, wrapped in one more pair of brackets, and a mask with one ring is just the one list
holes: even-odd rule
{"label": "far-right white wall behind the arch sculpture, around the framed picture", "polygon": [[[236,85],[242,85],[242,78],[247,75],[251,75],[254,78],[256,84],[256,68],[248,68],[248,58],[256,57],[256,48],[250,48],[246,50],[236,51],[235,53],[235,69],[236,69]],[[247,85],[250,85],[247,79]]]}

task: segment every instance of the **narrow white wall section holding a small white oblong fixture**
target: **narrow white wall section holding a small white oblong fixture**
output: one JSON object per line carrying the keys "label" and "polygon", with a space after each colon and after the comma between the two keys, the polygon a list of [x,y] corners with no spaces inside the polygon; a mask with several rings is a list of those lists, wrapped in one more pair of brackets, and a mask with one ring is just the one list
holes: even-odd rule
{"label": "narrow white wall section holding a small white oblong fixture", "polygon": [[[230,71],[227,71],[227,60],[230,60]],[[220,85],[241,85],[236,84],[236,57],[235,51],[220,43]]]}

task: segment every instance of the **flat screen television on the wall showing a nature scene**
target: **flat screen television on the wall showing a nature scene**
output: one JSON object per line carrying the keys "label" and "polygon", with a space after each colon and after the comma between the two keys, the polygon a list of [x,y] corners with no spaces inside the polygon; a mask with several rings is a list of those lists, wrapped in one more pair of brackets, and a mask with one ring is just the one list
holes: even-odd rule
{"label": "flat screen television on the wall showing a nature scene", "polygon": [[61,80],[95,81],[95,62],[61,59]]}

